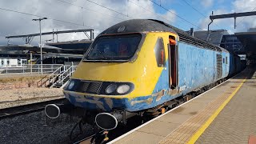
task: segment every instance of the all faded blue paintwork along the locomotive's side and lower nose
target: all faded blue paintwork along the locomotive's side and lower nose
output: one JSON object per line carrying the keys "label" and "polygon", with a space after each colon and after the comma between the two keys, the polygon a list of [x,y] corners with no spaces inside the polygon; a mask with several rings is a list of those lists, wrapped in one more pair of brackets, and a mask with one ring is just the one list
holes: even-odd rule
{"label": "all faded blue paintwork along the locomotive's side and lower nose", "polygon": [[[216,54],[222,54],[222,58],[229,58],[226,52],[201,49],[186,43],[178,43],[178,93],[169,95],[169,63],[166,60],[166,68],[158,78],[151,95],[138,96],[133,99],[128,98],[98,98],[85,94],[69,93],[64,91],[66,98],[74,106],[82,106],[86,109],[111,111],[114,108],[122,108],[128,111],[138,111],[152,108],[168,102],[171,99],[185,95],[192,90],[197,90],[202,86],[209,85],[216,79]],[[230,62],[229,60],[228,62]],[[229,74],[229,66],[222,62],[222,78]],[[161,90],[164,94],[158,97]]]}

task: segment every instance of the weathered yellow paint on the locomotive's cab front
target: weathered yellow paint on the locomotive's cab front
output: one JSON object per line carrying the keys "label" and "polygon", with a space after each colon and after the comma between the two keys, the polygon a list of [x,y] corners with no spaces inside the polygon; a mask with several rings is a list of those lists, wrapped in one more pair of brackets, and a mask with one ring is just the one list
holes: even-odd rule
{"label": "weathered yellow paint on the locomotive's cab front", "polygon": [[138,58],[134,62],[80,62],[72,78],[91,81],[134,83],[134,90],[130,94],[123,96],[88,94],[92,96],[136,98],[137,96],[150,95],[163,69],[157,66],[154,45],[158,37],[163,38],[167,59],[169,35],[177,38],[177,35],[172,33],[154,32],[146,34],[142,48],[138,52]]}

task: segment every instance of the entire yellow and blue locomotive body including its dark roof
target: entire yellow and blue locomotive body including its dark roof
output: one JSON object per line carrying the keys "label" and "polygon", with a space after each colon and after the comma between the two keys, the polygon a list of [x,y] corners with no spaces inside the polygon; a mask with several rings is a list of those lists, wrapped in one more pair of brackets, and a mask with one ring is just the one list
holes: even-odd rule
{"label": "entire yellow and blue locomotive body including its dark roof", "polygon": [[[147,25],[150,29],[160,28],[125,34],[115,34],[115,29],[110,28],[109,31],[114,34],[103,32],[95,39],[87,51],[86,60],[90,60],[90,54],[102,39],[108,40],[105,43],[114,47],[122,39],[141,35],[137,50],[129,61],[116,62],[112,58],[107,61],[106,55],[96,50],[99,61],[93,59],[79,63],[70,83],[64,87],[65,97],[74,106],[108,112],[115,109],[146,110],[210,85],[241,69],[241,63],[240,66],[236,65],[239,60],[235,60],[234,55],[226,50],[194,38],[192,42],[186,41],[187,36],[175,34],[173,30],[166,31],[168,27],[158,22],[134,20],[134,23],[142,26],[146,26],[143,24],[145,22],[150,22]],[[122,26],[124,23],[117,24],[118,30],[125,29],[126,26]],[[139,28],[134,24],[127,29],[131,30],[131,27]],[[179,36],[182,36],[182,40]],[[110,42],[113,40],[111,38],[115,41]],[[134,40],[126,42],[134,46]],[[119,87],[124,85],[130,91],[118,94]],[[112,88],[114,91],[108,94]]]}

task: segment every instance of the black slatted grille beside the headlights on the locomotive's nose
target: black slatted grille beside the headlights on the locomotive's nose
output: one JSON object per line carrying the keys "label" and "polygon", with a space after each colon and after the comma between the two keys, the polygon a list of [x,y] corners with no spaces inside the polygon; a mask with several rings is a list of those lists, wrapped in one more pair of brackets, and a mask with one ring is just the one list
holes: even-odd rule
{"label": "black slatted grille beside the headlights on the locomotive's nose", "polygon": [[77,91],[88,94],[98,94],[101,86],[102,82],[81,82]]}

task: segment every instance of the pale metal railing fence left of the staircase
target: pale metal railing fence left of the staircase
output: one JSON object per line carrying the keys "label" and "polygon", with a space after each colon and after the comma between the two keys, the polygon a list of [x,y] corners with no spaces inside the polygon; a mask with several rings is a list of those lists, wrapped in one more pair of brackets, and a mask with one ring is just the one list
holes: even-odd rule
{"label": "pale metal railing fence left of the staircase", "polygon": [[[62,64],[43,64],[42,74],[50,74],[57,70]],[[26,64],[22,66],[1,66],[0,74],[41,74],[40,64]]]}

